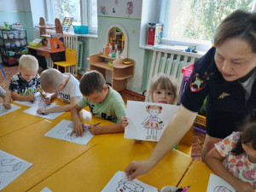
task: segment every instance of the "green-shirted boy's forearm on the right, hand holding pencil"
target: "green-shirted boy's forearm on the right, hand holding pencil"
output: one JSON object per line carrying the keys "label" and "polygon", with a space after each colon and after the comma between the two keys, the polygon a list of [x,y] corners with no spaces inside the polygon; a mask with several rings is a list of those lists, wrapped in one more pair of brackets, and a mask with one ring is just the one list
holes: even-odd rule
{"label": "green-shirted boy's forearm on the right, hand holding pencil", "polygon": [[106,126],[89,126],[89,131],[94,134],[104,134],[104,133],[118,133],[118,132],[124,132],[125,128],[122,125],[122,122],[115,124],[115,125],[106,125]]}

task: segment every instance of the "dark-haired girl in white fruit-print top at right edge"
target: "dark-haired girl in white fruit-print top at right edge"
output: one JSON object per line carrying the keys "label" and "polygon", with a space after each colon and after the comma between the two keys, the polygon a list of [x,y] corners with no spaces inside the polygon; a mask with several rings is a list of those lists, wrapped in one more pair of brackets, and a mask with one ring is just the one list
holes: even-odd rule
{"label": "dark-haired girl in white fruit-print top at right edge", "polygon": [[237,192],[256,188],[256,122],[247,122],[207,154],[206,163]]}

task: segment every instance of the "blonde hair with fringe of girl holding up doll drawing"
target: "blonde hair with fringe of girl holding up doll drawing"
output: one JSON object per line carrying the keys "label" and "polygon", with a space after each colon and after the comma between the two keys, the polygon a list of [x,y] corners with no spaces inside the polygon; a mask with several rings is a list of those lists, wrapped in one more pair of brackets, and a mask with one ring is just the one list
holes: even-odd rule
{"label": "blonde hair with fringe of girl holding up doll drawing", "polygon": [[158,85],[160,85],[160,89],[162,90],[171,90],[173,93],[173,101],[175,102],[177,100],[177,83],[174,79],[164,73],[160,73],[151,79],[149,90],[151,100],[153,100],[153,93]]}

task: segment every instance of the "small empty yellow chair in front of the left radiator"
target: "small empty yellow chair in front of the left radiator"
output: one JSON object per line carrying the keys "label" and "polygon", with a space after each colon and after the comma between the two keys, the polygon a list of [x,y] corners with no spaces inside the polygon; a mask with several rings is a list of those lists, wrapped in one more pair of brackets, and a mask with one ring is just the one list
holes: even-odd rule
{"label": "small empty yellow chair in front of the left radiator", "polygon": [[59,70],[59,66],[64,67],[65,73],[67,73],[68,67],[73,67],[73,71],[74,71],[77,79],[79,79],[79,75],[78,75],[78,71],[77,71],[77,63],[78,63],[77,62],[77,50],[67,48],[65,51],[65,55],[66,55],[66,61],[58,61],[58,62],[54,62],[54,64],[57,66],[58,70]]}

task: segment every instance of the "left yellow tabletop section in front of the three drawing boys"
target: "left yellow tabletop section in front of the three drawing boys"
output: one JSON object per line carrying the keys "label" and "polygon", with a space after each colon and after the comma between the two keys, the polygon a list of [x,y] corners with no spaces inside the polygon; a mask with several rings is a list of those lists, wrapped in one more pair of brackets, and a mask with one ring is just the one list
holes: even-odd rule
{"label": "left yellow tabletop section in front of the three drawing boys", "polygon": [[[65,114],[65,119],[71,120],[70,114]],[[45,137],[44,134],[57,125],[60,120],[60,118],[55,120],[44,119],[1,137],[1,150],[33,164],[1,191],[14,192],[31,189],[34,185],[110,136],[105,134],[93,137],[86,146]],[[90,124],[91,122],[99,122],[99,119],[92,117],[89,112],[83,110],[83,121]],[[112,124],[103,119],[101,119],[101,122],[101,125]]]}

